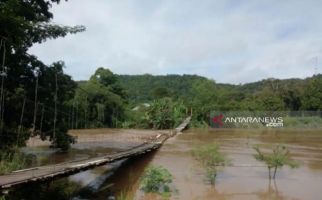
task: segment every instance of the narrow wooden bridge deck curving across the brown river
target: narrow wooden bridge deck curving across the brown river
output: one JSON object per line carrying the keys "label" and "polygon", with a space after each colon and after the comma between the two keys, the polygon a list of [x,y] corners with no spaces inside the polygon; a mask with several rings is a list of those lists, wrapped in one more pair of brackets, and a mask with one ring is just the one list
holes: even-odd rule
{"label": "narrow wooden bridge deck curving across the brown river", "polygon": [[168,133],[160,133],[149,142],[144,142],[138,146],[132,147],[116,153],[110,153],[105,156],[77,160],[71,162],[60,163],[56,165],[46,165],[41,167],[35,167],[30,169],[19,170],[8,175],[0,176],[0,190],[8,189],[14,186],[18,186],[25,183],[45,181],[53,179],[55,177],[67,176],[75,174],[79,171],[94,168],[96,166],[111,163],[124,158],[130,158],[137,155],[145,154],[147,152],[158,149],[163,142],[169,137],[181,132],[190,122],[188,117],[182,124],[176,129],[169,131]]}

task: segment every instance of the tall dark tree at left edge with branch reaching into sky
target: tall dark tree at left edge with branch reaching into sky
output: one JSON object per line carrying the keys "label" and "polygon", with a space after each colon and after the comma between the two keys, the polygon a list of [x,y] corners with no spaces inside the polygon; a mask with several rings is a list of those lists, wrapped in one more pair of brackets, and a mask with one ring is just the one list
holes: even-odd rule
{"label": "tall dark tree at left edge with branch reaching into sky", "polygon": [[[1,148],[6,145],[16,144],[17,127],[23,125],[23,134],[26,139],[28,130],[32,126],[39,129],[40,121],[31,120],[31,113],[35,113],[36,119],[43,117],[41,106],[47,112],[54,102],[54,77],[57,74],[59,85],[58,108],[73,93],[75,84],[71,78],[63,73],[62,62],[46,66],[36,56],[30,55],[28,49],[35,43],[42,43],[48,39],[64,37],[69,33],[77,33],[85,30],[83,26],[61,26],[52,23],[53,14],[50,8],[58,4],[59,0],[2,0],[0,1],[0,67],[3,75],[1,84],[3,88],[2,116],[1,119]],[[38,86],[38,87],[36,87]],[[38,96],[38,98],[34,98]],[[26,101],[25,109],[22,105]],[[37,102],[31,102],[37,100]],[[36,112],[32,112],[34,110]],[[23,112],[24,111],[24,112]],[[47,114],[47,113],[45,113]],[[41,116],[39,116],[41,115]],[[22,117],[23,116],[23,117]],[[48,116],[48,114],[47,114]],[[63,115],[58,115],[57,121],[62,120]],[[20,124],[22,118],[22,124]],[[46,118],[45,121],[49,119]],[[37,124],[33,125],[36,121]],[[42,123],[42,122],[41,122]],[[49,126],[52,122],[42,124],[47,135],[51,135]],[[63,124],[61,124],[63,126]],[[61,128],[65,134],[66,127]],[[42,130],[41,130],[42,131]],[[21,142],[21,144],[23,141]]]}

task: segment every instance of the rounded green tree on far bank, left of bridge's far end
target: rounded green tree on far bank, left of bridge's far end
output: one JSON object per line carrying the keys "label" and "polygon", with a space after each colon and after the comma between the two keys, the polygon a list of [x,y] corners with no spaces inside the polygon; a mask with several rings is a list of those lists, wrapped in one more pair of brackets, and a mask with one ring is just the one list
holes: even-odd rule
{"label": "rounded green tree on far bank, left of bridge's far end", "polygon": [[86,124],[89,127],[115,127],[123,120],[126,93],[117,79],[109,69],[100,67],[88,82],[79,86],[75,99],[70,102],[79,107],[75,113],[78,127],[86,127]]}

